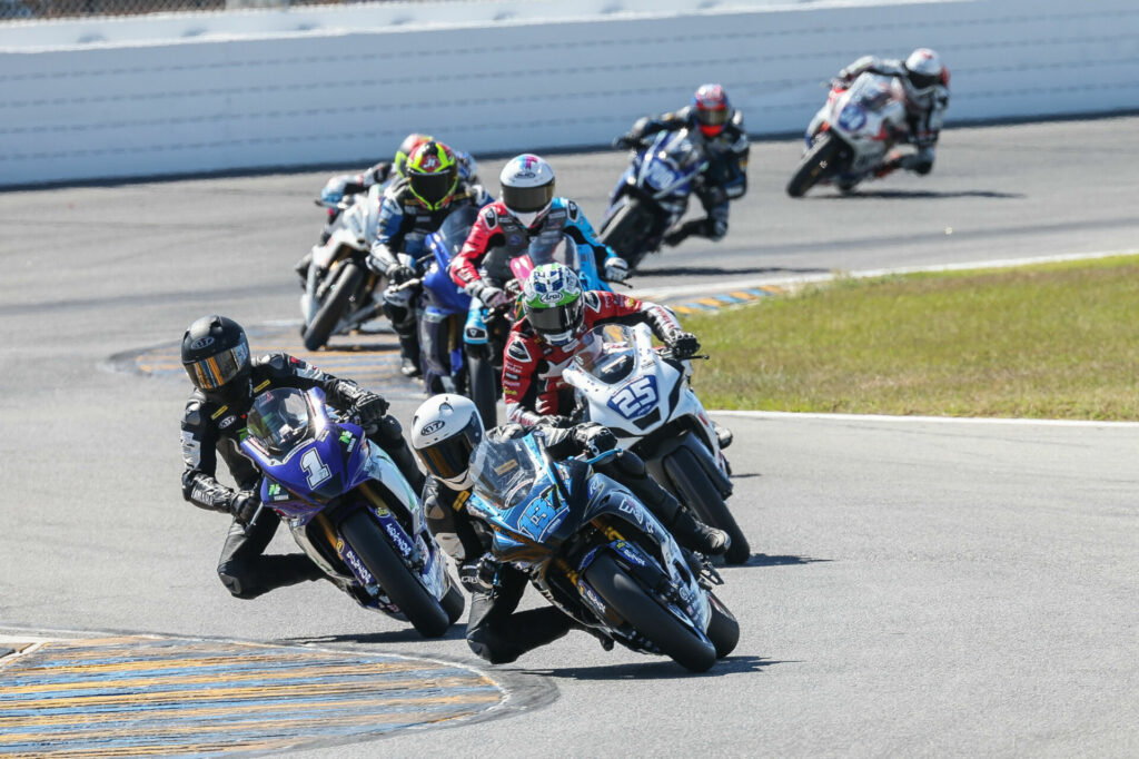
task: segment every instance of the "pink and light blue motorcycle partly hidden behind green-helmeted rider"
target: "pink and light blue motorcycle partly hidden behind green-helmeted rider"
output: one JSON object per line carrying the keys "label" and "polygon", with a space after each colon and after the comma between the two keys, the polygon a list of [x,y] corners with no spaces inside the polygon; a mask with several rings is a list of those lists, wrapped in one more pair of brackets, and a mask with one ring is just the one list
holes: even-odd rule
{"label": "pink and light blue motorcycle partly hidden behind green-helmeted rider", "polygon": [[601,279],[592,252],[582,255],[576,243],[560,232],[552,239],[544,234],[539,235],[531,240],[526,253],[509,260],[509,274],[497,278],[506,281],[502,289],[511,302],[495,309],[480,302],[477,309],[468,312],[464,328],[470,399],[478,407],[486,427],[494,426],[498,419],[498,399],[502,395],[502,352],[510,327],[518,319],[518,295],[530,274],[546,263],[560,263],[573,269],[581,279],[582,289],[613,289]]}

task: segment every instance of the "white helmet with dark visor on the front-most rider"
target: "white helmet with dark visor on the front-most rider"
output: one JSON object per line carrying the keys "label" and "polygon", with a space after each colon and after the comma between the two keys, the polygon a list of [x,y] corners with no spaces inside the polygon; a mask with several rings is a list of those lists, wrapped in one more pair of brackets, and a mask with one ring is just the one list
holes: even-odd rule
{"label": "white helmet with dark visor on the front-most rider", "polygon": [[474,482],[470,455],[482,440],[478,408],[462,395],[433,395],[411,417],[411,448],[427,473],[451,490],[466,490]]}

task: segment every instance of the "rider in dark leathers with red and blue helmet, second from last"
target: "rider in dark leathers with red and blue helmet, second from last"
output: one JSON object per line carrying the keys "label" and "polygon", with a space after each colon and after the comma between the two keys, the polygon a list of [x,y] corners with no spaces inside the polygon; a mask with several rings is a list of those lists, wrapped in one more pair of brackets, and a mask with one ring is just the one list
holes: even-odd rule
{"label": "rider in dark leathers with red and blue helmet, second from last", "polygon": [[[664,236],[667,245],[679,245],[696,235],[711,240],[722,239],[728,234],[728,203],[747,191],[747,156],[751,150],[744,116],[731,107],[727,92],[719,84],[702,84],[693,101],[675,113],[645,116],[632,129],[613,141],[614,147],[644,149],[657,132],[688,129],[704,139],[708,165],[700,173],[696,195],[704,206],[704,219],[686,221]],[[624,177],[617,182],[611,206],[624,185]]]}

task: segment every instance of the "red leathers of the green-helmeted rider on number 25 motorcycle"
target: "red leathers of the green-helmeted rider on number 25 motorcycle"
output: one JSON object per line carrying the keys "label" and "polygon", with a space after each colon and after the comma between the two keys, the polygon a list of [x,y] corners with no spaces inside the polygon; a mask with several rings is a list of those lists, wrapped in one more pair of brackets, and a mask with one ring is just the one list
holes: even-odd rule
{"label": "red leathers of the green-helmeted rider on number 25 motorcycle", "polygon": [[585,291],[581,297],[581,336],[567,345],[543,341],[525,317],[510,328],[502,359],[502,395],[510,422],[532,425],[543,416],[566,416],[573,410],[573,387],[562,379],[562,372],[598,324],[647,324],[666,343],[686,334],[663,305],[604,291]]}

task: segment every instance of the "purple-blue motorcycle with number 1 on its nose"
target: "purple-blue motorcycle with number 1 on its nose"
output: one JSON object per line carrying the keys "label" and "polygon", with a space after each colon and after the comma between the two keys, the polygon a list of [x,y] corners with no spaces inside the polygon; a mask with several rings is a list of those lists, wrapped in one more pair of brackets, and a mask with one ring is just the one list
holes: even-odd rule
{"label": "purple-blue motorcycle with number 1 on its nose", "polygon": [[272,508],[328,578],[366,609],[439,637],[462,614],[446,557],[403,474],[319,389],[257,394],[241,450]]}

